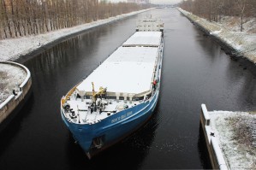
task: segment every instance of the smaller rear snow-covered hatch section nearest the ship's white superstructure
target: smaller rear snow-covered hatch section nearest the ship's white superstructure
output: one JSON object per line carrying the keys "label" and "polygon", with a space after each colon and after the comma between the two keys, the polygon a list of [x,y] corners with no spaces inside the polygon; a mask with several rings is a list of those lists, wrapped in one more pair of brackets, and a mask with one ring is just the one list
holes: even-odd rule
{"label": "smaller rear snow-covered hatch section nearest the ship's white superstructure", "polygon": [[161,44],[162,32],[135,32],[131,38],[128,38],[123,46],[129,45],[147,45],[159,46]]}

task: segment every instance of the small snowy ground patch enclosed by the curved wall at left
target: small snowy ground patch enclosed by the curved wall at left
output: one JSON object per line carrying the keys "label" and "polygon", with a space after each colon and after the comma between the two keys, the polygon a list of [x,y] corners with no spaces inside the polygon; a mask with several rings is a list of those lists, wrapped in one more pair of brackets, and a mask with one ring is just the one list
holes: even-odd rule
{"label": "small snowy ground patch enclosed by the curved wall at left", "polygon": [[26,77],[27,73],[21,67],[0,63],[0,103],[13,94],[13,90],[19,91],[19,85]]}

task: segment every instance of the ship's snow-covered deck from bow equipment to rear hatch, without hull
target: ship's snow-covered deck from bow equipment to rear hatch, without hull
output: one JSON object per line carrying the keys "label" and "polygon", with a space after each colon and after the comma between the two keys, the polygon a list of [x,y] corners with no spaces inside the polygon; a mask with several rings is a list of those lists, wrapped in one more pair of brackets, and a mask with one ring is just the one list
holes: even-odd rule
{"label": "ship's snow-covered deck from bow equipment to rear hatch, without hull", "polygon": [[[161,62],[158,57],[163,55],[162,43],[162,32],[135,32],[124,46],[68,92],[63,100],[67,120],[95,124],[126,108],[145,103],[156,91],[152,82],[158,79],[156,72]],[[95,92],[92,92],[93,86]],[[107,89],[107,99],[96,97],[93,101],[92,94],[100,87]]]}

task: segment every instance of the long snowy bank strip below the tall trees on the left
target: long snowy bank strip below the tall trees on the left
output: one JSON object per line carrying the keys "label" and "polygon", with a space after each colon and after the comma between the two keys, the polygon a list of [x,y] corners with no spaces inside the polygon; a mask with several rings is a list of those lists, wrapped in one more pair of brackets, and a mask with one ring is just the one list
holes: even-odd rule
{"label": "long snowy bank strip below the tall trees on the left", "polygon": [[65,28],[54,32],[46,32],[44,34],[32,35],[22,38],[9,38],[0,40],[0,61],[15,61],[20,56],[25,56],[33,50],[37,50],[45,44],[50,44],[59,38],[64,38],[76,32],[82,32],[95,26],[100,26],[111,21],[116,21],[131,15],[136,15],[141,12],[145,12],[146,10],[150,9],[135,11],[124,15],[117,15],[105,20],[93,21],[91,23]]}

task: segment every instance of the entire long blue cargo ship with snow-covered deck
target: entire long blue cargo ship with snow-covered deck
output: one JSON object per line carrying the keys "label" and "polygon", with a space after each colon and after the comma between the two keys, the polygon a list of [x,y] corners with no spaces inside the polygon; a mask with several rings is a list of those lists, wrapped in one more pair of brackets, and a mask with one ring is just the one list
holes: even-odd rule
{"label": "entire long blue cargo ship with snow-covered deck", "polygon": [[136,32],[61,99],[61,114],[89,159],[127,138],[158,103],[164,23],[137,22]]}

